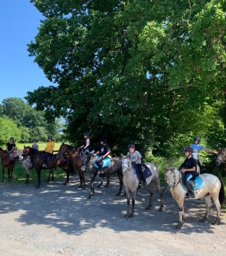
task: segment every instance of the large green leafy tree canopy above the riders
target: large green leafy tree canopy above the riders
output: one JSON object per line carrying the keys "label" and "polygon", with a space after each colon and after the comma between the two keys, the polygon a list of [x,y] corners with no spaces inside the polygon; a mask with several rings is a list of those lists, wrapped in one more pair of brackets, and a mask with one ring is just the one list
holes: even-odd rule
{"label": "large green leafy tree canopy above the riders", "polygon": [[[28,45],[55,83],[28,92],[115,151],[175,154],[194,135],[225,145],[225,1],[32,0],[45,16]],[[213,143],[212,143],[213,144]]]}

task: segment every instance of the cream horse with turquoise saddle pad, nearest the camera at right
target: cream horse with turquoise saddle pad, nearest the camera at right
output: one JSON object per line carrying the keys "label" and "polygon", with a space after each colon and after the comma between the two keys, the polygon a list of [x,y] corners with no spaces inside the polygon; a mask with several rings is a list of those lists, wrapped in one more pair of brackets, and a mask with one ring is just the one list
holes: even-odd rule
{"label": "cream horse with turquoise saddle pad, nearest the camera at right", "polygon": [[[206,213],[201,222],[209,219],[209,212],[211,210],[211,197],[216,205],[216,220],[213,224],[219,224],[221,205],[224,203],[224,183],[222,179],[208,173],[201,174],[199,177],[203,179],[203,188],[194,191],[195,198],[199,199],[205,197]],[[180,229],[185,220],[184,214],[184,199],[187,191],[181,185],[182,174],[175,167],[169,167],[165,170],[165,181],[167,182],[172,197],[177,201],[179,206],[179,222],[175,229]]]}

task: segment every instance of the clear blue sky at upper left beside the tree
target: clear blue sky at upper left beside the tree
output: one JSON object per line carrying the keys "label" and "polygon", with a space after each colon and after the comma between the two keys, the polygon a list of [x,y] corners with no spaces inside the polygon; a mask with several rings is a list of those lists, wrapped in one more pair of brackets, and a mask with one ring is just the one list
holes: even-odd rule
{"label": "clear blue sky at upper left beside the tree", "polygon": [[27,43],[34,40],[44,17],[30,0],[1,1],[0,104],[8,97],[26,96],[28,90],[48,86],[42,69],[29,57]]}

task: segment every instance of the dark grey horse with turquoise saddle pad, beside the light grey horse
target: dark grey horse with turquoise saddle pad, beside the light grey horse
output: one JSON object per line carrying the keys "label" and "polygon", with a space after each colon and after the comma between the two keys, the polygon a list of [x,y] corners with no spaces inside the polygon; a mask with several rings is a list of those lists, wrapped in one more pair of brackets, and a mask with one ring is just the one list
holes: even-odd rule
{"label": "dark grey horse with turquoise saddle pad, beside the light grey horse", "polygon": [[[95,157],[93,154],[88,153],[86,158],[82,158],[81,168],[83,170],[87,169],[90,174],[90,193],[88,198],[92,198],[94,193],[94,182],[98,173],[98,168],[93,166]],[[120,180],[120,189],[116,195],[120,195],[123,188],[123,173],[121,171],[121,158],[113,157],[111,158],[111,166],[103,167],[103,173],[99,174],[99,177],[109,177],[110,175],[117,173],[118,179]]]}

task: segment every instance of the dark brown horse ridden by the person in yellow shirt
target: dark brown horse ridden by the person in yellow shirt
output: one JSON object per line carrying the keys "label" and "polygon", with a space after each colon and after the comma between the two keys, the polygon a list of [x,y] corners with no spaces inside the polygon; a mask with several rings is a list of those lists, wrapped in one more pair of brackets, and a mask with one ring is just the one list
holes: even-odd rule
{"label": "dark brown horse ridden by the person in yellow shirt", "polygon": [[31,148],[30,146],[24,146],[23,157],[30,157],[32,160],[32,165],[37,171],[37,186],[40,187],[40,176],[42,169],[52,169],[61,163],[61,159],[57,159],[57,154],[52,155],[52,157],[48,160],[48,166],[42,167],[44,163],[43,151],[37,151],[36,149]]}

